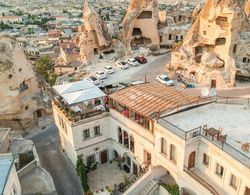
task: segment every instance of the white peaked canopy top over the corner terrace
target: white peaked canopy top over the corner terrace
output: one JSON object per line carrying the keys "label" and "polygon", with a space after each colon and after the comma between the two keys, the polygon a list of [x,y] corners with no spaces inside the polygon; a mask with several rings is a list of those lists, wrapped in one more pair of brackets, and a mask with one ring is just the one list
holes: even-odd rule
{"label": "white peaked canopy top over the corner terrace", "polygon": [[88,80],[56,85],[53,89],[68,105],[74,105],[106,96],[102,90]]}

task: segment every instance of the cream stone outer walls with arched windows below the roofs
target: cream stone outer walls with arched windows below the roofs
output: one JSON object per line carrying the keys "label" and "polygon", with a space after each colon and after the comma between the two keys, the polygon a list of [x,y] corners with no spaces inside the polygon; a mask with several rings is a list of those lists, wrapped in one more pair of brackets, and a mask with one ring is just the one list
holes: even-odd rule
{"label": "cream stone outer walls with arched windows below the roofs", "polygon": [[[156,121],[154,131],[151,132],[113,109],[79,122],[70,122],[55,105],[53,110],[62,148],[73,164],[76,163],[78,155],[83,157],[85,163],[87,163],[87,157],[94,155],[95,161],[101,164],[102,151],[107,151],[107,161],[109,161],[114,158],[114,150],[116,150],[119,155],[126,154],[130,157],[130,173],[133,173],[134,164],[139,166],[145,162],[145,152],[147,152],[151,154],[153,167],[163,167],[172,175],[181,189],[192,192],[191,194],[213,194],[213,189],[218,194],[247,195],[249,193],[249,167],[202,136],[191,136],[191,139],[185,141],[173,133],[173,130],[163,127]],[[60,125],[58,116],[65,122],[67,133]],[[100,126],[98,136],[94,135],[96,126]],[[131,136],[133,137],[134,152],[129,149],[130,142],[128,148],[123,142],[119,143],[119,128],[122,132],[127,132],[129,140]],[[90,130],[90,137],[84,139],[83,131],[86,129]],[[166,140],[164,153],[163,138]],[[188,169],[192,152],[195,152],[193,166]],[[206,165],[204,154],[209,158]],[[217,164],[223,167],[222,172],[217,170]],[[190,175],[192,173],[196,173],[199,177]],[[220,173],[222,176],[219,176]],[[202,179],[206,184],[202,184]],[[213,189],[207,185],[212,186]]]}

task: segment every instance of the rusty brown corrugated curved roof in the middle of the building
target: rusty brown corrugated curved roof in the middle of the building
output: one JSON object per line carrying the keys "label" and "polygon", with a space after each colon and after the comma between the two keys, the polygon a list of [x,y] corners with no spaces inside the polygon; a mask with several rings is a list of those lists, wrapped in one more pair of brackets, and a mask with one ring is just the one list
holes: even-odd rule
{"label": "rusty brown corrugated curved roof in the middle of the building", "polygon": [[193,104],[201,99],[158,83],[131,86],[110,97],[146,117],[152,117],[158,111],[164,113],[179,106]]}

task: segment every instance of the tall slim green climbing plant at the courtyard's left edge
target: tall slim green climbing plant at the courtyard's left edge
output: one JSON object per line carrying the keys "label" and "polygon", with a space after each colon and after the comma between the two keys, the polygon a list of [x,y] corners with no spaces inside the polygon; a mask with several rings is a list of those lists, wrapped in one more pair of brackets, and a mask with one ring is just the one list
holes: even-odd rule
{"label": "tall slim green climbing plant at the courtyard's left edge", "polygon": [[78,157],[76,162],[76,172],[80,177],[82,188],[85,193],[89,192],[89,185],[88,185],[88,175],[86,166],[83,163],[82,158]]}

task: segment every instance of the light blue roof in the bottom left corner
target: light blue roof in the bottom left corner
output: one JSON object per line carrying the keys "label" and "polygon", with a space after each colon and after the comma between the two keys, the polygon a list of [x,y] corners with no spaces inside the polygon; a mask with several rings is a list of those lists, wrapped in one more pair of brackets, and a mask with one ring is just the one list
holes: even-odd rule
{"label": "light blue roof in the bottom left corner", "polygon": [[11,153],[0,154],[0,194],[3,193],[5,183],[8,179],[9,172],[13,163],[13,157]]}

